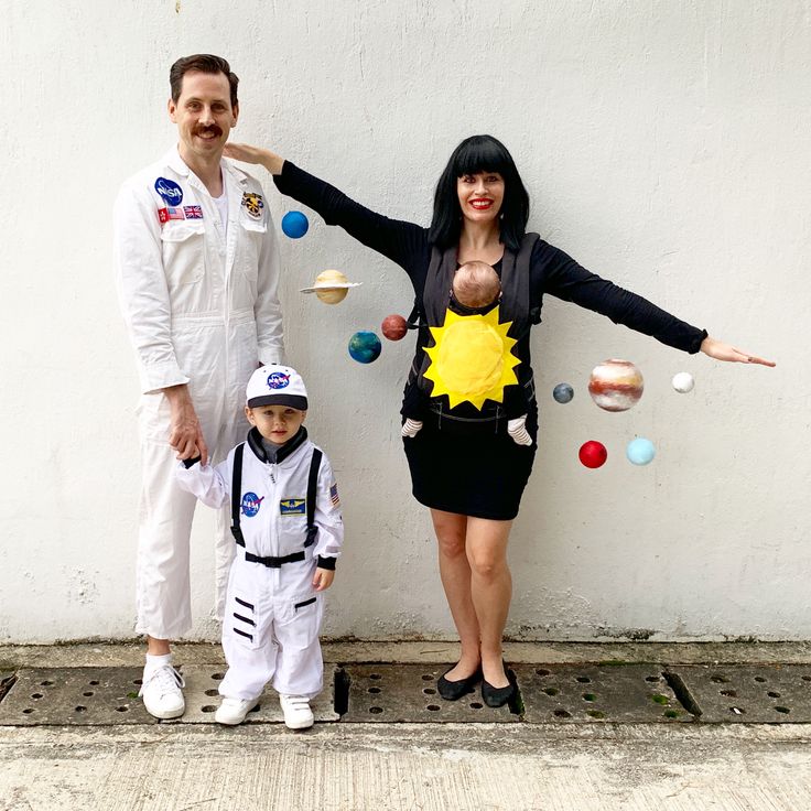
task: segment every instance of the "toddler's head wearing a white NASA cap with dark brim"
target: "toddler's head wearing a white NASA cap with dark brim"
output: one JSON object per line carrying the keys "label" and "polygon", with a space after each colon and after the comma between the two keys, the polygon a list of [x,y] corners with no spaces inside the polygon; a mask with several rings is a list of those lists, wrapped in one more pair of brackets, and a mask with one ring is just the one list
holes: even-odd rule
{"label": "toddler's head wearing a white NASA cap with dark brim", "polygon": [[273,444],[292,440],[307,415],[307,390],[301,375],[278,364],[257,369],[248,381],[245,413],[248,422]]}

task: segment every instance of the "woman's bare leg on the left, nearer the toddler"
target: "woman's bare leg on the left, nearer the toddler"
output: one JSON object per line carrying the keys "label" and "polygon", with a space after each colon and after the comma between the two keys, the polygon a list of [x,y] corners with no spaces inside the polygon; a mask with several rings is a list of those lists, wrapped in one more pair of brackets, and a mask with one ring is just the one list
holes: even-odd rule
{"label": "woman's bare leg on the left, nearer the toddler", "polygon": [[442,586],[462,646],[458,663],[448,670],[445,678],[459,681],[472,675],[479,663],[479,628],[471,598],[471,565],[465,553],[471,519],[456,512],[432,509],[431,520],[439,541]]}

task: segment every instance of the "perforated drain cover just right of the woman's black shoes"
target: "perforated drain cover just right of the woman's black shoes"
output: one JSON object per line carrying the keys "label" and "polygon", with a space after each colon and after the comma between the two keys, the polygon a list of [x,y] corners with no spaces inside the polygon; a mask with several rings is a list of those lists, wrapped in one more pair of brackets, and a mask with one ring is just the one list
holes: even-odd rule
{"label": "perforated drain cover just right of the woman's black shoes", "polygon": [[650,723],[692,721],[658,664],[515,667],[523,720]]}

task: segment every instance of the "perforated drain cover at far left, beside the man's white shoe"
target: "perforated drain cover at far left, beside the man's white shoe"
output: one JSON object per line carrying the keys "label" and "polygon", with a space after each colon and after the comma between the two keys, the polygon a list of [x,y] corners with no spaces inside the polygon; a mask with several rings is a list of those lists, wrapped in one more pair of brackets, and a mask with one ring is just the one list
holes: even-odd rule
{"label": "perforated drain cover at far left, beside the man's white shoe", "polygon": [[137,698],[142,668],[20,670],[0,702],[0,724],[152,724]]}

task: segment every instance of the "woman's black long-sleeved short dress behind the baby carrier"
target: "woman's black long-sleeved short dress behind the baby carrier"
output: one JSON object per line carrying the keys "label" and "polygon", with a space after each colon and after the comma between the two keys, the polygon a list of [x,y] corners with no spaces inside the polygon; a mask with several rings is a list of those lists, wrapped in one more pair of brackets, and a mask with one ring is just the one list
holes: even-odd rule
{"label": "woman's black long-sleeved short dress behind the baby carrier", "polygon": [[[274,175],[273,181],[282,194],[316,210],[327,225],[340,226],[363,245],[399,264],[411,279],[424,324],[422,298],[432,250],[426,228],[376,214],[290,161],[285,161],[282,173]],[[494,267],[499,270],[498,264]],[[544,293],[606,315],[617,324],[684,352],[699,352],[706,337],[705,331],[601,279],[562,250],[538,240],[530,262],[529,304],[533,323],[540,322]],[[428,327],[418,332],[414,359],[418,369],[429,336]],[[512,354],[521,361],[516,369],[519,379],[531,378],[529,336],[516,344]],[[466,409],[472,415],[475,413],[469,403],[454,409],[462,422]],[[517,445],[505,430],[456,434],[441,430],[436,421],[425,420],[417,436],[403,441],[414,497],[426,507],[447,512],[511,520],[518,515],[537,450],[534,400],[530,403],[527,429],[533,440],[531,446]]]}

